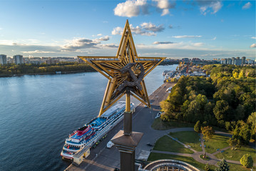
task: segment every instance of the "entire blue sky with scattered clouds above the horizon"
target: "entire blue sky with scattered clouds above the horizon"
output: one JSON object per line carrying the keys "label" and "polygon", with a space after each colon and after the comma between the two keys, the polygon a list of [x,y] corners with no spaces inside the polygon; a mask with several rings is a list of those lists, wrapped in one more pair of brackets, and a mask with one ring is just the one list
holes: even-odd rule
{"label": "entire blue sky with scattered clouds above the horizon", "polygon": [[126,19],[139,56],[255,59],[255,1],[0,1],[0,53],[115,56]]}

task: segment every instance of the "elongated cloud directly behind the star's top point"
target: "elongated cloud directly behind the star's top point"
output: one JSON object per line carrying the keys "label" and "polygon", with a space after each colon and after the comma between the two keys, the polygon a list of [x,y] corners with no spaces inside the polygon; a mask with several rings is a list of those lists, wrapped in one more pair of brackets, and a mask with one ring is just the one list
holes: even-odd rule
{"label": "elongated cloud directly behind the star's top point", "polygon": [[[155,36],[156,35],[155,32],[160,32],[160,31],[163,31],[164,29],[165,28],[163,27],[163,25],[155,26],[155,24],[152,24],[152,23],[143,23],[143,24],[140,24],[140,26],[135,26],[135,27],[133,27],[133,25],[130,24],[130,31],[133,34],[138,34],[142,36]],[[113,28],[113,31],[111,33],[113,35],[122,34],[123,28],[121,27]]]}

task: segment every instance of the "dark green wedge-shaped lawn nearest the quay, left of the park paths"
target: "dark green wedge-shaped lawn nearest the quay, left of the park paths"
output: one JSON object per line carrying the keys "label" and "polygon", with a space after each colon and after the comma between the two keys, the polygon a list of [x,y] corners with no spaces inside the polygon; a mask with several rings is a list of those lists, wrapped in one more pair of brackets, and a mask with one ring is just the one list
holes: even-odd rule
{"label": "dark green wedge-shaped lawn nearest the quay, left of the park paths", "polygon": [[153,150],[168,151],[168,152],[181,152],[181,153],[189,153],[189,154],[193,153],[193,151],[184,147],[183,145],[176,142],[175,140],[172,140],[167,135],[159,138],[157,140],[157,142],[155,142],[155,146],[154,146]]}

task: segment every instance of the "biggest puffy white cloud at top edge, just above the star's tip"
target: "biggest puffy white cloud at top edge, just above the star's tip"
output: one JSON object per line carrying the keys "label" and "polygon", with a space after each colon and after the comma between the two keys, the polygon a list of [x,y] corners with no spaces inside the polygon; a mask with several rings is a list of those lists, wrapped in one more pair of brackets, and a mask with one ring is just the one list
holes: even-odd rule
{"label": "biggest puffy white cloud at top edge, just above the star's tip", "polygon": [[128,0],[123,3],[120,3],[114,9],[114,13],[116,16],[138,16],[140,11],[143,14],[147,13],[147,2],[146,0]]}

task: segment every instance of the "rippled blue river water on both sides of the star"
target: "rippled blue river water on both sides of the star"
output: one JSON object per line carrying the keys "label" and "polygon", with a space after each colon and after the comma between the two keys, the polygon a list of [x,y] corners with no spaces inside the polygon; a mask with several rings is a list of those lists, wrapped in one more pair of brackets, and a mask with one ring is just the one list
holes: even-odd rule
{"label": "rippled blue river water on both sides of the star", "polygon": [[[148,95],[176,67],[148,74]],[[0,78],[0,170],[64,170],[64,141],[98,115],[107,82],[97,72]]]}

